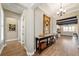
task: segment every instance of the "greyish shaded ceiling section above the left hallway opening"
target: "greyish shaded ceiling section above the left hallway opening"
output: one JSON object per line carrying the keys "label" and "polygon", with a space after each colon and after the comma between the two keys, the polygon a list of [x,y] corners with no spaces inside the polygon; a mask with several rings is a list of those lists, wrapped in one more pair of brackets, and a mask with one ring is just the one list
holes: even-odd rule
{"label": "greyish shaded ceiling section above the left hallway opening", "polygon": [[2,6],[4,9],[10,10],[10,11],[18,13],[18,14],[21,14],[23,11],[22,6],[19,6],[16,3],[3,3]]}

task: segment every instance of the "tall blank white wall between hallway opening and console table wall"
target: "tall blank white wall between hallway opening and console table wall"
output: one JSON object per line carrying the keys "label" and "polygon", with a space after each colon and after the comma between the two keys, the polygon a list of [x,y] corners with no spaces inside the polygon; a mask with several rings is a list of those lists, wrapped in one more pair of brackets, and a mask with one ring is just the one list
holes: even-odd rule
{"label": "tall blank white wall between hallway opening and console table wall", "polygon": [[24,10],[25,20],[25,48],[28,55],[34,54],[34,10]]}

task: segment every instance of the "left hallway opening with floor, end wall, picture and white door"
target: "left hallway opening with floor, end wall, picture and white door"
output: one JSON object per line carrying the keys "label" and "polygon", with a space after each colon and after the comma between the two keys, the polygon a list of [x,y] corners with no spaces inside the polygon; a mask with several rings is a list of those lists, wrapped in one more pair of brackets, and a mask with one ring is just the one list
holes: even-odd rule
{"label": "left hallway opening with floor, end wall, picture and white door", "polygon": [[6,46],[3,48],[2,56],[25,56],[24,46],[24,23],[22,14],[5,10],[4,8],[4,40]]}

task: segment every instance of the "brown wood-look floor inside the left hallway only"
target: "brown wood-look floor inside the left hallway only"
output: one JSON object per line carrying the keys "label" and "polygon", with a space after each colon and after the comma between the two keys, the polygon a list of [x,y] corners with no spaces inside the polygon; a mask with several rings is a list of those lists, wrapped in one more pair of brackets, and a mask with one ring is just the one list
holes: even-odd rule
{"label": "brown wood-look floor inside the left hallway only", "polygon": [[26,50],[18,41],[7,42],[1,56],[26,56]]}

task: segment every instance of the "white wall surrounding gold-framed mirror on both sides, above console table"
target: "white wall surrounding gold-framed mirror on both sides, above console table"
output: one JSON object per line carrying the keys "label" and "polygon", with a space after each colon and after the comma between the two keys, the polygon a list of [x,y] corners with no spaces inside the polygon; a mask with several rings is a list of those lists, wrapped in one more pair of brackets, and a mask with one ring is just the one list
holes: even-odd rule
{"label": "white wall surrounding gold-framed mirror on both sides, above console table", "polygon": [[53,32],[53,18],[42,11],[40,8],[35,9],[35,37],[38,37],[40,33],[43,33],[43,15],[47,15],[50,17],[50,33]]}

